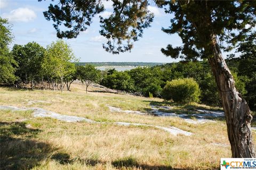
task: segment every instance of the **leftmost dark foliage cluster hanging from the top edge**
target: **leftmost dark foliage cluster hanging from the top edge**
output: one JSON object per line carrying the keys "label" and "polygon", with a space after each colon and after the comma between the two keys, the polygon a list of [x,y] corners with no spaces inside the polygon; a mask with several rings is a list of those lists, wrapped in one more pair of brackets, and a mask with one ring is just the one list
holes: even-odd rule
{"label": "leftmost dark foliage cluster hanging from the top edge", "polygon": [[[94,0],[60,1],[58,5],[50,4],[48,11],[44,12],[46,20],[52,19],[55,22],[54,28],[58,38],[76,38],[79,32],[85,31],[90,26],[93,16],[104,10],[102,2]],[[61,31],[59,27],[63,26],[68,30]]]}

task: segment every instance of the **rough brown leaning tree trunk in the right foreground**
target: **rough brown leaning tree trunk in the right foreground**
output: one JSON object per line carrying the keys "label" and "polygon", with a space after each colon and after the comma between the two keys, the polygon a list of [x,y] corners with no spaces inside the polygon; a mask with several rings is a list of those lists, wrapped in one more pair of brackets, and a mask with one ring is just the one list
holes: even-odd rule
{"label": "rough brown leaning tree trunk in the right foreground", "polygon": [[218,43],[212,44],[213,56],[209,63],[219,88],[223,109],[225,111],[228,139],[232,157],[255,157],[252,140],[252,115],[245,99],[235,88],[235,81],[222,57]]}

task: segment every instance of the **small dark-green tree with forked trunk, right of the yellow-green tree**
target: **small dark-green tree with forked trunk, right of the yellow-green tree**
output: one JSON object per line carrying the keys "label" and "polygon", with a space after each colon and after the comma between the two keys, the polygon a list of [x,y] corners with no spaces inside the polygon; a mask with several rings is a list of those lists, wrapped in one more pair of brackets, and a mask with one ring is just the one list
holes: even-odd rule
{"label": "small dark-green tree with forked trunk, right of the yellow-green tree", "polygon": [[82,83],[85,83],[87,94],[87,88],[91,83],[99,83],[101,73],[94,65],[86,64],[85,66],[77,66],[77,78],[81,80]]}

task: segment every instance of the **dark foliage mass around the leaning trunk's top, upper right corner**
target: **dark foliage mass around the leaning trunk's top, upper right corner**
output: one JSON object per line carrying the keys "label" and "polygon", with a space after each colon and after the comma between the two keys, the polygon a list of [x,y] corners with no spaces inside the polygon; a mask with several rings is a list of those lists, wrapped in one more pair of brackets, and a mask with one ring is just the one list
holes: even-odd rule
{"label": "dark foliage mass around the leaning trunk's top, upper right corner", "polygon": [[[162,52],[173,58],[196,60],[212,55],[212,42],[230,50],[243,41],[255,26],[254,1],[158,1],[165,12],[173,14],[171,26],[164,32],[178,33],[183,45],[168,45]],[[250,25],[249,28],[245,28]],[[234,31],[236,30],[236,31]],[[218,40],[217,40],[218,39]],[[225,43],[223,43],[225,42]],[[226,46],[224,46],[226,45]]]}

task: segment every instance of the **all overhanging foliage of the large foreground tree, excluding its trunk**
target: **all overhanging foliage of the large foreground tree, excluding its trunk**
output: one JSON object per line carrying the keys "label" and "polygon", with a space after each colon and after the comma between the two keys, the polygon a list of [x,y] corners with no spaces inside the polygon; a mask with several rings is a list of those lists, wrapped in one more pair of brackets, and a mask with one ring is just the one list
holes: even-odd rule
{"label": "all overhanging foliage of the large foreground tree, excluding its trunk", "polygon": [[[41,1],[41,0],[39,0]],[[100,17],[100,34],[107,38],[103,48],[118,54],[126,52],[142,36],[143,29],[150,27],[153,13],[148,10],[149,1],[114,1],[113,13]],[[225,41],[225,49],[233,47],[255,27],[255,1],[155,1],[172,14],[171,26],[164,32],[178,33],[183,46],[168,45],[162,52],[173,58],[195,60],[212,54],[213,39]],[[59,38],[75,38],[91,24],[93,16],[104,10],[102,1],[60,1],[44,12],[47,20],[54,22]],[[68,31],[61,31],[60,25]],[[249,28],[246,28],[250,25]],[[234,31],[236,30],[236,31]],[[224,43],[221,43],[224,44]]]}

